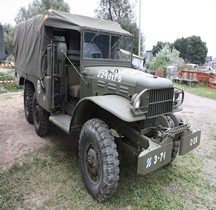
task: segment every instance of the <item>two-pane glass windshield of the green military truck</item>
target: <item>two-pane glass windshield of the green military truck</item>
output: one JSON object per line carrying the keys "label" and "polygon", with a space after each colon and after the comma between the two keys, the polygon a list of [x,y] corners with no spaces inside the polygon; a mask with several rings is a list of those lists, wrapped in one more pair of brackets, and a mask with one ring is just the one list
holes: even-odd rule
{"label": "two-pane glass windshield of the green military truck", "polygon": [[85,32],[83,58],[131,61],[132,41],[131,37],[124,35]]}

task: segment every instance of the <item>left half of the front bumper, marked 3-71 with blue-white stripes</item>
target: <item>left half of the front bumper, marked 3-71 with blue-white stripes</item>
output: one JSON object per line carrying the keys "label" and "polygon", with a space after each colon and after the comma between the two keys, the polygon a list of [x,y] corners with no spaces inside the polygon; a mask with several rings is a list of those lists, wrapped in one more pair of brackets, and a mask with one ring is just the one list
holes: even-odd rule
{"label": "left half of the front bumper, marked 3-71 with blue-white stripes", "polygon": [[139,154],[137,173],[145,175],[171,162],[173,143],[164,146],[150,142],[147,150]]}

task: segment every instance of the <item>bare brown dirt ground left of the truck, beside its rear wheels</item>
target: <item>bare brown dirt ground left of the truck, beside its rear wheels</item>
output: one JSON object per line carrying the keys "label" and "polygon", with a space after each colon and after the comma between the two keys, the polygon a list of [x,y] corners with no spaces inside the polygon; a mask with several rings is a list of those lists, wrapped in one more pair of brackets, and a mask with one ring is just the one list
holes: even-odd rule
{"label": "bare brown dirt ground left of the truck, beside its rear wheels", "polygon": [[56,127],[50,129],[50,134],[41,138],[26,121],[23,92],[0,94],[0,171],[40,147],[71,138]]}

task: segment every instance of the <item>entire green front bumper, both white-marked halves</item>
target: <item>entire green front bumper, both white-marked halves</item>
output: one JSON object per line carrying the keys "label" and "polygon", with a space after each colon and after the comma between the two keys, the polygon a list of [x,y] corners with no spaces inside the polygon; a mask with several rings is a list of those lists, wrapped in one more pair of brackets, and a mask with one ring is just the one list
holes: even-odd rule
{"label": "entire green front bumper, both white-marked halves", "polygon": [[[186,130],[181,134],[179,155],[184,155],[200,144],[201,131]],[[148,149],[138,157],[137,173],[145,175],[153,172],[172,161],[173,141],[159,145],[149,141]]]}

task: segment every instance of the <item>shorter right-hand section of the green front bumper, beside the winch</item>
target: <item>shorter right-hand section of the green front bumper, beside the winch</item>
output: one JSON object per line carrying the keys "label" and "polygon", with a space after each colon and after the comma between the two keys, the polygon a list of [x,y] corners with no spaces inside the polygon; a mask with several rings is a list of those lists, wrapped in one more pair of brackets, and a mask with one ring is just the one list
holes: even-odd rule
{"label": "shorter right-hand section of the green front bumper, beside the winch", "polygon": [[201,131],[185,131],[180,139],[179,155],[184,155],[200,144]]}

